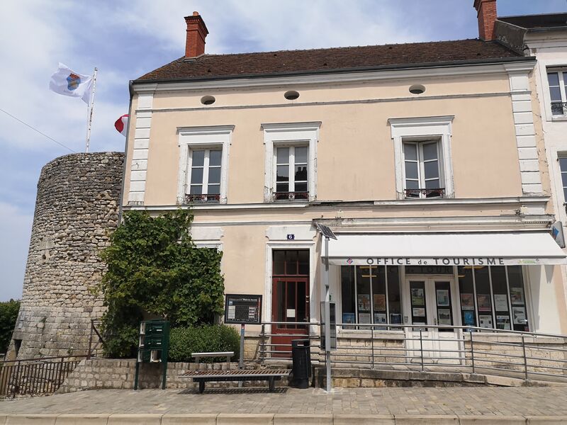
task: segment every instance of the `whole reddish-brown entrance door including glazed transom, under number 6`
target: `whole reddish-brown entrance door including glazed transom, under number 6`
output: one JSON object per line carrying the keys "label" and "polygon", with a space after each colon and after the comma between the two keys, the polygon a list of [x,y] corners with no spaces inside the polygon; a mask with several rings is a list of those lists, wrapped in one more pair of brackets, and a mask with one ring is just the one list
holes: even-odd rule
{"label": "whole reddish-brown entrance door including glazed transom, under number 6", "polygon": [[309,251],[274,251],[273,259],[271,354],[291,358],[291,341],[309,335]]}

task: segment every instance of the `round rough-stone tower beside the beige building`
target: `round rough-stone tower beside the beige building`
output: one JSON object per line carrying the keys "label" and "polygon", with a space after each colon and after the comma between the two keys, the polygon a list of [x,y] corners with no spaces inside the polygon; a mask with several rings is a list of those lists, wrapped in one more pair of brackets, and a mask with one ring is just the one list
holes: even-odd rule
{"label": "round rough-stone tower beside the beige building", "polygon": [[46,164],[28,252],[20,313],[9,356],[86,353],[103,302],[99,252],[118,225],[124,154],[70,154]]}

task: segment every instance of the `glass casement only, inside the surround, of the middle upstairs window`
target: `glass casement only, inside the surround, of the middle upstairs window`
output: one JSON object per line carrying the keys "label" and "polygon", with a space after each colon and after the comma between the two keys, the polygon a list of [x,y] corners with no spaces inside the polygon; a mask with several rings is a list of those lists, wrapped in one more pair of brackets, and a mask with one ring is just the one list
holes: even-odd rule
{"label": "glass casement only, inside the surround, of the middle upstairs window", "polygon": [[307,200],[308,146],[276,147],[276,191],[274,200]]}

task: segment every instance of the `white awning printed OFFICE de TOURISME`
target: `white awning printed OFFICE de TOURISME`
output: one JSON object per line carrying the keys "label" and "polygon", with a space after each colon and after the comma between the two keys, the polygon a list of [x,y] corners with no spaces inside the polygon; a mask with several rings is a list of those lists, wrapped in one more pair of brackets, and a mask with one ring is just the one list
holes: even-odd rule
{"label": "white awning printed OFFICE de TOURISME", "polygon": [[549,232],[337,234],[331,264],[500,266],[565,264]]}

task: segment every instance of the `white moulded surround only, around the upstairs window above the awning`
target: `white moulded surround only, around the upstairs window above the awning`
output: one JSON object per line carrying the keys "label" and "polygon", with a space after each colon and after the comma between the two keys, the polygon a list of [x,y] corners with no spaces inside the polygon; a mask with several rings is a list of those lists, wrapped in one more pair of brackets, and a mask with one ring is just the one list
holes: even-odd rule
{"label": "white moulded surround only, around the upstairs window above the awning", "polygon": [[451,137],[454,115],[420,118],[390,118],[391,138],[394,142],[395,192],[397,199],[438,200],[439,198],[405,197],[405,162],[403,142],[438,140],[439,179],[444,184],[442,198],[454,198]]}

